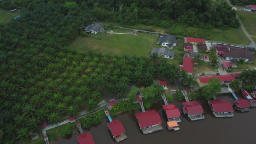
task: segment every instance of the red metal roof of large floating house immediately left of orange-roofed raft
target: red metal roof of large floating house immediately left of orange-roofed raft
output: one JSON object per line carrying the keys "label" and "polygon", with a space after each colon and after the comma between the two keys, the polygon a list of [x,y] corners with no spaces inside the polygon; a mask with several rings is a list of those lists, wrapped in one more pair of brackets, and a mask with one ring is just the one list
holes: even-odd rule
{"label": "red metal roof of large floating house immediately left of orange-roofed raft", "polygon": [[135,116],[137,117],[139,126],[141,128],[146,128],[155,124],[162,123],[159,113],[156,112],[156,110],[136,113]]}

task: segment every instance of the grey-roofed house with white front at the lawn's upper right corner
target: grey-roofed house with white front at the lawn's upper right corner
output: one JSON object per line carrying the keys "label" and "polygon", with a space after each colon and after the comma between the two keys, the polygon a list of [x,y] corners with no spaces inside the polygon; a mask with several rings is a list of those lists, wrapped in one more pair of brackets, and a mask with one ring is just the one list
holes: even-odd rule
{"label": "grey-roofed house with white front at the lawn's upper right corner", "polygon": [[170,47],[172,49],[173,46],[178,44],[178,40],[175,35],[162,35],[158,39],[158,43],[161,46]]}

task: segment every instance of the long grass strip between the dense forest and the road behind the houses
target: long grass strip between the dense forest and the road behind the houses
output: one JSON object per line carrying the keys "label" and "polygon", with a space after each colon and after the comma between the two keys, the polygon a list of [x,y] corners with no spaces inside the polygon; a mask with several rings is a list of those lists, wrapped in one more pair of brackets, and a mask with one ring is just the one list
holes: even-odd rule
{"label": "long grass strip between the dense forest and the road behind the houses", "polygon": [[164,27],[156,27],[156,26],[146,26],[142,24],[137,24],[133,26],[125,26],[120,25],[119,23],[110,23],[110,22],[101,22],[106,23],[108,25],[112,24],[113,26],[123,26],[127,28],[134,29],[142,29],[145,31],[158,32],[162,34],[173,34],[173,35],[181,35],[184,37],[195,37],[195,38],[203,38],[207,40],[220,41],[224,43],[230,44],[239,44],[239,45],[248,45],[250,44],[249,39],[246,37],[245,33],[243,33],[242,28],[229,28],[228,30],[222,29],[202,29],[181,25],[173,25],[169,28]]}

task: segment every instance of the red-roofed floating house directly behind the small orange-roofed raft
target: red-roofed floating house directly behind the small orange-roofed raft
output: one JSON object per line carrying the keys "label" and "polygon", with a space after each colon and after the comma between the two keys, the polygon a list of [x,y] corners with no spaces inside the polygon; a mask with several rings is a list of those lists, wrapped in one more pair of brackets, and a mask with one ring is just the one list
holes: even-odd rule
{"label": "red-roofed floating house directly behind the small orange-roofed raft", "polygon": [[178,123],[181,122],[181,119],[179,118],[181,116],[181,112],[174,104],[163,105],[162,107],[165,110],[168,121],[177,121]]}

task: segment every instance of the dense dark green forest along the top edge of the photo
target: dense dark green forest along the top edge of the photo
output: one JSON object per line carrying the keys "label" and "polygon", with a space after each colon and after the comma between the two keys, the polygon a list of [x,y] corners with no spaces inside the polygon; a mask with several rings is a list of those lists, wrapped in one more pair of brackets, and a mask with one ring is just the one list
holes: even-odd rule
{"label": "dense dark green forest along the top edge of the photo", "polygon": [[[43,1],[62,4],[65,1]],[[202,28],[237,28],[236,12],[223,0],[87,0],[74,1],[92,14],[93,21],[120,22],[126,25],[171,26],[173,23]],[[37,0],[3,0],[5,9],[33,9]]]}

